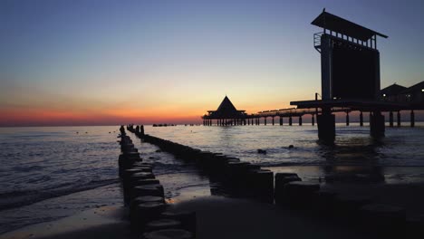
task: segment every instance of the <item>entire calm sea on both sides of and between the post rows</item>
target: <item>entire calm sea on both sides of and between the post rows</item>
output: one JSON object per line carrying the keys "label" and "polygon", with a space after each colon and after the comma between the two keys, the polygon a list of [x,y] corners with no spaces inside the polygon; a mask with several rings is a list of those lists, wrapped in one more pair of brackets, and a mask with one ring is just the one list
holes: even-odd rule
{"label": "entire calm sea on both sides of and between the post rows", "polygon": [[[379,175],[384,183],[424,178],[424,125],[386,129],[373,140],[368,127],[338,125],[334,146],[317,142],[316,126],[150,127],[146,133],[221,152],[275,172],[294,171],[307,180]],[[122,204],[116,142],[118,127],[0,128],[0,234],[55,220],[87,208]],[[167,197],[207,186],[196,168],[184,165],[130,133],[141,157],[155,165]],[[293,145],[294,148],[288,148]],[[266,154],[257,154],[257,149]]]}

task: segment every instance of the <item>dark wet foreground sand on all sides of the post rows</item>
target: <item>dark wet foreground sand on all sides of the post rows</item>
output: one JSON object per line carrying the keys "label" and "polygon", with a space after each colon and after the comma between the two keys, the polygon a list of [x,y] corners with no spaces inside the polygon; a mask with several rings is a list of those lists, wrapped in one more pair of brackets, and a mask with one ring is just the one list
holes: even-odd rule
{"label": "dark wet foreground sand on all sides of the post rows", "polygon": [[[342,194],[361,194],[379,203],[403,206],[408,215],[424,213],[424,185],[329,185]],[[293,210],[224,196],[192,196],[176,200],[171,211],[196,211],[198,238],[371,238],[354,225],[325,220],[309,211]],[[0,238],[140,238],[130,234],[126,208],[104,206],[54,222],[30,225]]]}

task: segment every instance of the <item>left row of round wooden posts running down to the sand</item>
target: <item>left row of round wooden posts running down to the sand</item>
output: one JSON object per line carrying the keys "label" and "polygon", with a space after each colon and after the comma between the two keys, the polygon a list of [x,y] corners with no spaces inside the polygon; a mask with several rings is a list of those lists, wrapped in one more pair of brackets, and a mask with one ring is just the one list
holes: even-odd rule
{"label": "left row of round wooden posts running down to the sand", "polygon": [[[140,128],[138,129],[140,132]],[[120,127],[119,172],[132,234],[144,239],[196,238],[196,213],[168,211],[164,188]]]}

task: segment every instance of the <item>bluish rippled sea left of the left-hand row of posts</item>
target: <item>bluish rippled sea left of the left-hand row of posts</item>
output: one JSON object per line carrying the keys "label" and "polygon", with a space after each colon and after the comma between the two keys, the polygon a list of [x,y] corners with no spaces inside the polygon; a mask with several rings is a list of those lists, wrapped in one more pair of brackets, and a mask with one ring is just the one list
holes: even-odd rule
{"label": "bluish rippled sea left of the left-hand row of posts", "polygon": [[0,209],[116,182],[114,130],[0,128]]}

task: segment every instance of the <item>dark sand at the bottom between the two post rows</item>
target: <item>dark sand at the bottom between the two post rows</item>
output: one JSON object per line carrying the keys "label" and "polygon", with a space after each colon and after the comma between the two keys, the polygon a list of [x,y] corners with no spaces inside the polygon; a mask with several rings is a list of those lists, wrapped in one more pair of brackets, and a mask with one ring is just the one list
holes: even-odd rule
{"label": "dark sand at the bottom between the two post rows", "polygon": [[198,238],[367,238],[308,212],[247,199],[199,197],[170,210],[196,211]]}

